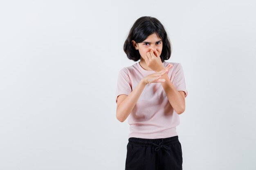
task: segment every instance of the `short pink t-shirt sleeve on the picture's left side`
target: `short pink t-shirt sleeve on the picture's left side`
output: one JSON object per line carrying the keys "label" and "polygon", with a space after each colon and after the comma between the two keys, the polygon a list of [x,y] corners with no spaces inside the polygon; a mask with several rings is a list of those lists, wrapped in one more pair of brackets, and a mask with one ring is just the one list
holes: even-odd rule
{"label": "short pink t-shirt sleeve on the picture's left side", "polygon": [[119,95],[129,95],[132,92],[130,77],[127,68],[122,68],[117,77],[116,103]]}

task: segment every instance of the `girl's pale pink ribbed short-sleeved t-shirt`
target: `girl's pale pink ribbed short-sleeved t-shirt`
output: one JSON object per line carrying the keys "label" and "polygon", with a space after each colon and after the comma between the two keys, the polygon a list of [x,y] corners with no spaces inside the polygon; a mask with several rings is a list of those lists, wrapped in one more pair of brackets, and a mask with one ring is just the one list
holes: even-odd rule
{"label": "girl's pale pink ribbed short-sleeved t-shirt", "polygon": [[[163,62],[164,68],[170,62]],[[173,67],[167,75],[177,91],[184,91],[187,96],[183,68],[180,63],[172,62]],[[117,97],[121,94],[129,95],[140,80],[155,71],[147,71],[139,62],[124,67],[119,71],[117,79]],[[173,110],[161,83],[147,84],[137,103],[128,116],[130,137],[158,139],[177,136],[176,126],[180,124],[179,115]]]}

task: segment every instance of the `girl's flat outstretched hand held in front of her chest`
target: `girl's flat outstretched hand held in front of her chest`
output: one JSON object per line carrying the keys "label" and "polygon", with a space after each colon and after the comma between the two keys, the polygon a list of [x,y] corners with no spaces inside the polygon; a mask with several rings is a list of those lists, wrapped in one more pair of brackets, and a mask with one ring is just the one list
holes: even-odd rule
{"label": "girl's flat outstretched hand held in front of her chest", "polygon": [[165,73],[168,73],[169,69],[172,68],[173,64],[168,64],[164,69],[161,71],[155,72],[153,74],[147,75],[146,77],[142,78],[142,81],[145,84],[150,84],[150,83],[164,83],[165,79],[161,79],[162,75]]}

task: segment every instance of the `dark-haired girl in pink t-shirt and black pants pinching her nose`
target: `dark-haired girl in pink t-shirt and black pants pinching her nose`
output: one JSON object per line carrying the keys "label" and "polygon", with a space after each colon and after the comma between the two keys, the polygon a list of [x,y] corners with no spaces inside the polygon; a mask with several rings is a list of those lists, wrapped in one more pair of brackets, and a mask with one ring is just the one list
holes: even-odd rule
{"label": "dark-haired girl in pink t-shirt and black pants pinching her nose", "polygon": [[135,21],[124,43],[130,60],[117,79],[116,117],[128,117],[126,170],[182,170],[182,147],[176,132],[187,90],[180,63],[165,62],[171,43],[153,17]]}

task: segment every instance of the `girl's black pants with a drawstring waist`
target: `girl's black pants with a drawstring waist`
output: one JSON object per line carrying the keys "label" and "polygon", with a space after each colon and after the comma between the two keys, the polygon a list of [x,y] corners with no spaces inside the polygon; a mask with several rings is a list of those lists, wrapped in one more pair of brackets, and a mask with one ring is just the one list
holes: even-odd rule
{"label": "girl's black pants with a drawstring waist", "polygon": [[130,137],[125,170],[182,170],[178,136],[161,139]]}

